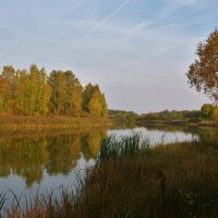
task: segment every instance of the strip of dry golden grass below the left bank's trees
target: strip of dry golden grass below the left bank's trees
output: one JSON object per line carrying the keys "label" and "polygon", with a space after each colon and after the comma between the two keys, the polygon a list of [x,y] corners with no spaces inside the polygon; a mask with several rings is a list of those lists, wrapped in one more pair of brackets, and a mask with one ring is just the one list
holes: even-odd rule
{"label": "strip of dry golden grass below the left bank's trees", "polygon": [[28,116],[0,116],[0,130],[5,129],[69,129],[88,126],[109,126],[111,121],[95,117],[28,117]]}

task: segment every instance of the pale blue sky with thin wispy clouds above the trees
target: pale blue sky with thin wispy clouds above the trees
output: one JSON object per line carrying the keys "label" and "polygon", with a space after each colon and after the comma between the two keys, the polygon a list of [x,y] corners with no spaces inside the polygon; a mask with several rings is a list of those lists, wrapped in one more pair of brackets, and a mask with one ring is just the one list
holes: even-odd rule
{"label": "pale blue sky with thin wispy clouds above the trees", "polygon": [[218,26],[218,0],[0,0],[0,70],[32,63],[98,84],[110,109],[210,102],[185,73]]}

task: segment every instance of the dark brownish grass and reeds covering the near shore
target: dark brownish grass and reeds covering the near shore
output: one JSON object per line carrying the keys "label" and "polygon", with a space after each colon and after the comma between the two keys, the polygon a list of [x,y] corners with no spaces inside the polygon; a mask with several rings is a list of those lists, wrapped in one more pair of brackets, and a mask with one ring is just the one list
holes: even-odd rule
{"label": "dark brownish grass and reeds covering the near shore", "polygon": [[36,197],[9,217],[217,217],[218,142],[149,148],[138,135],[106,138],[77,193]]}

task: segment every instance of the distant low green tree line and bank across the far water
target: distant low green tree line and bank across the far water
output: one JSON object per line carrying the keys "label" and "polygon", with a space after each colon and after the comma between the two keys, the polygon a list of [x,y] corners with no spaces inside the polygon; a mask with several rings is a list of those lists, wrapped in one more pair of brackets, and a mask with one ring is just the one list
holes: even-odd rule
{"label": "distant low green tree line and bank across the far water", "polygon": [[109,110],[113,123],[132,123],[144,125],[149,123],[185,124],[185,125],[218,125],[218,107],[205,104],[201,110],[164,110],[137,114],[133,111]]}

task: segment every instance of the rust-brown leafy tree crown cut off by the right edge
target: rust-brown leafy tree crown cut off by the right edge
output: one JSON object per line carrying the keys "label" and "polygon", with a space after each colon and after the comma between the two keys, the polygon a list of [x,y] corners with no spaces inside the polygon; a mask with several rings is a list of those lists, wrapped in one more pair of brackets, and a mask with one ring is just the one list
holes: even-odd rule
{"label": "rust-brown leafy tree crown cut off by the right edge", "polygon": [[186,73],[189,83],[197,92],[205,93],[218,104],[218,29],[215,29],[205,43],[197,45],[198,59],[190,65]]}

